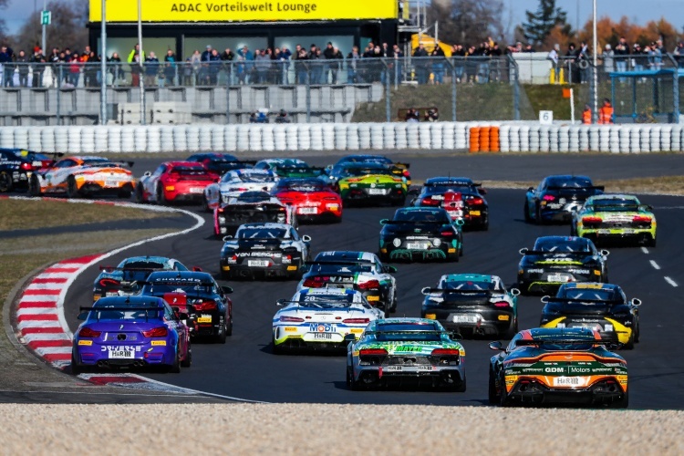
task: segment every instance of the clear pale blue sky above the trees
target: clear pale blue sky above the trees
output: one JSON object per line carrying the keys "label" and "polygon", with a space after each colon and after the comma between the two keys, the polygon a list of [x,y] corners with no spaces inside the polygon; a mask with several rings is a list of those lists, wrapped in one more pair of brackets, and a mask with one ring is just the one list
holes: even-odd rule
{"label": "clear pale blue sky above the trees", "polygon": [[[514,25],[523,22],[525,10],[534,11],[539,0],[503,0],[503,3],[507,8],[504,18],[507,21],[511,17]],[[557,0],[556,5],[567,12],[568,22],[573,28],[577,25],[577,17],[581,28],[592,14],[592,0]],[[43,9],[43,1],[10,0],[9,7],[2,12],[9,32],[16,33],[24,24],[26,14],[33,13],[34,8]],[[663,16],[670,22],[675,21],[673,25],[679,30],[684,26],[684,0],[597,0],[596,10],[599,17],[610,16],[617,21],[621,16],[627,16],[630,21],[642,26],[649,20],[658,20]]]}

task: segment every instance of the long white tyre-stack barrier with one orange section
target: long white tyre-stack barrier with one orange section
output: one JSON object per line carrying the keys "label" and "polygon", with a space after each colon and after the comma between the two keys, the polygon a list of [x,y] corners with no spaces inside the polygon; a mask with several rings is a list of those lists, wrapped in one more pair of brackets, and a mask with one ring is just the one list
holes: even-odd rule
{"label": "long white tyre-stack barrier with one orange section", "polygon": [[684,150],[684,125],[396,122],[2,127],[0,148],[74,154],[405,149],[658,152]]}

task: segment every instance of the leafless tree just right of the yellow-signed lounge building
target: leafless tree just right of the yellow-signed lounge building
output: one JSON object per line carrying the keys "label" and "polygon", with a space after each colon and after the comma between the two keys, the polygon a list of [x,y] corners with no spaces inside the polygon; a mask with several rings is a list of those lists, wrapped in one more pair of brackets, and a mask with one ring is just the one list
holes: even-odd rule
{"label": "leafless tree just right of the yellow-signed lounge building", "polygon": [[488,36],[503,41],[503,0],[451,0],[432,2],[428,22],[440,22],[440,41],[476,44]]}

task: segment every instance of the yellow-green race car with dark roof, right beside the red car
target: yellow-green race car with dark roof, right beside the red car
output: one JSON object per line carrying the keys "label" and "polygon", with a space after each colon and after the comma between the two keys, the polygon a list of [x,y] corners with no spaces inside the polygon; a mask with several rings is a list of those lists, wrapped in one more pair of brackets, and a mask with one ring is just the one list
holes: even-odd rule
{"label": "yellow-green race car with dark roof, right beside the red car", "polygon": [[355,202],[389,202],[403,206],[408,186],[387,165],[346,162],[335,165],[326,181],[339,192],[346,205]]}

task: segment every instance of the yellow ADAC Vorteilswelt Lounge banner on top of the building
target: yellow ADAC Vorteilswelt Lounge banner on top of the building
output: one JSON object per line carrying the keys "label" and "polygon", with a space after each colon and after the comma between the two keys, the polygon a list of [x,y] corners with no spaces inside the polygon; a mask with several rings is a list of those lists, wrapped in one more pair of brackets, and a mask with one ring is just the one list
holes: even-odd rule
{"label": "yellow ADAC Vorteilswelt Lounge banner on top of the building", "polygon": [[[275,22],[394,19],[397,0],[140,0],[142,22]],[[101,0],[90,0],[90,22],[102,20]],[[138,22],[138,0],[109,0],[107,22]]]}

